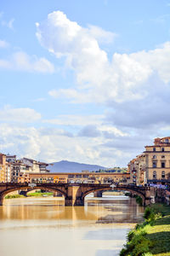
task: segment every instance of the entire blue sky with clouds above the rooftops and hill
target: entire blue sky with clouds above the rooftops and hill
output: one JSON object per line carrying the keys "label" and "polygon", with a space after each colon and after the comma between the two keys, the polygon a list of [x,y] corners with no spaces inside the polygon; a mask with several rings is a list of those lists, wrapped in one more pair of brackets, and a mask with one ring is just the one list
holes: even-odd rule
{"label": "entire blue sky with clouds above the rooftops and hill", "polygon": [[1,1],[0,152],[127,166],[169,110],[170,1]]}

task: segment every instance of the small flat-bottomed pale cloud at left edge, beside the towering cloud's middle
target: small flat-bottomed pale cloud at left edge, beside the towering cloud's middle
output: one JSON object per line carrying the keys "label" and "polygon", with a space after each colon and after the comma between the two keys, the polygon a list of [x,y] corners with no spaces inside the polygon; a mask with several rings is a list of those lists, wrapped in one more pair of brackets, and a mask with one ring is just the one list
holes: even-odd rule
{"label": "small flat-bottomed pale cloud at left edge, beside the towering cloud's middle", "polygon": [[25,52],[15,52],[8,59],[0,59],[0,67],[17,71],[54,73],[54,65],[45,58],[27,55]]}

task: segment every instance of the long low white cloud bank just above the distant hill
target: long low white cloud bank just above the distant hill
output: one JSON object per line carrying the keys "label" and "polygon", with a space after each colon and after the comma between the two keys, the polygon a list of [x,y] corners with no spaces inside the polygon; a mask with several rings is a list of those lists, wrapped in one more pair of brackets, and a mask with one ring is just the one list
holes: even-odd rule
{"label": "long low white cloud bank just above the distant hill", "polygon": [[[84,163],[116,166],[121,160],[121,150],[101,145],[105,139],[95,137],[69,137],[63,131],[45,128],[0,124],[0,151],[53,162],[74,160]],[[122,165],[126,165],[123,154]]]}

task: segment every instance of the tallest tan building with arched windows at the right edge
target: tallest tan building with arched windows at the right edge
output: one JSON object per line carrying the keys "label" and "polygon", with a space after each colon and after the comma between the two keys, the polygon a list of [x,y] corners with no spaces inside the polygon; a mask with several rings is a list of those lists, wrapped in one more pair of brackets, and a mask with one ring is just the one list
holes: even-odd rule
{"label": "tallest tan building with arched windows at the right edge", "polygon": [[170,182],[170,137],[156,138],[144,154],[147,183]]}

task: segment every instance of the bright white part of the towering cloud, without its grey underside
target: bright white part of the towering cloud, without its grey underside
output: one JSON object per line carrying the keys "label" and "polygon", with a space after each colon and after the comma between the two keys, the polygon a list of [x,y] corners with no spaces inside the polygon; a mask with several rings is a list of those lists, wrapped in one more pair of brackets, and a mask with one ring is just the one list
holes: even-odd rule
{"label": "bright white part of the towering cloud, without its grey underside", "polygon": [[76,88],[52,90],[49,94],[71,102],[129,102],[150,94],[150,78],[155,74],[169,83],[170,43],[147,52],[115,53],[109,61],[99,40],[111,41],[113,35],[96,26],[79,26],[60,11],[37,24],[40,44],[57,57],[65,56],[67,67],[77,78]]}

